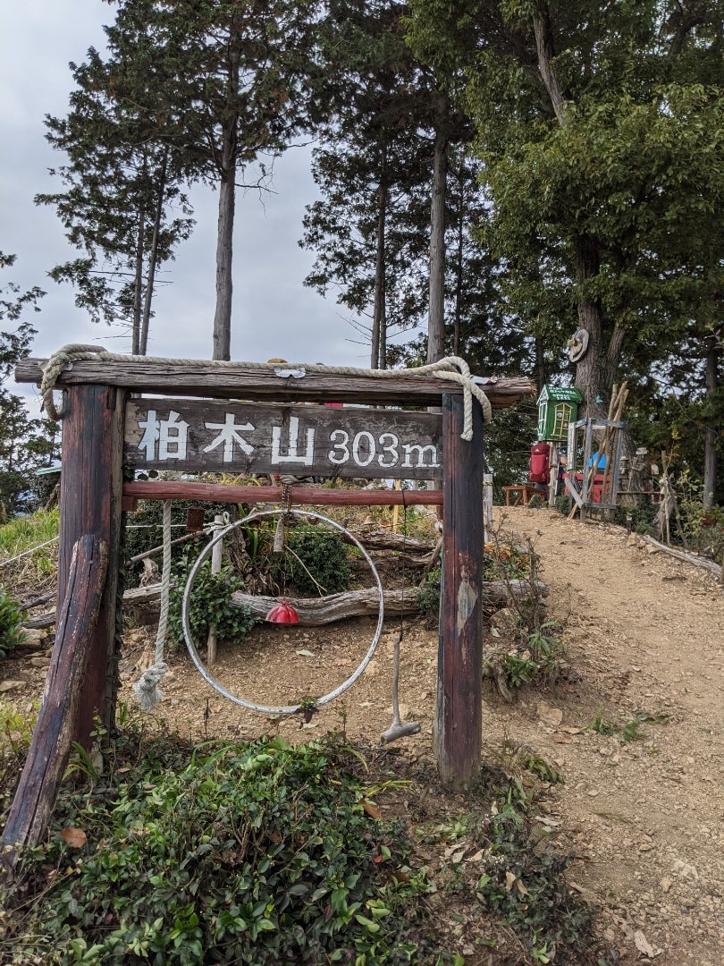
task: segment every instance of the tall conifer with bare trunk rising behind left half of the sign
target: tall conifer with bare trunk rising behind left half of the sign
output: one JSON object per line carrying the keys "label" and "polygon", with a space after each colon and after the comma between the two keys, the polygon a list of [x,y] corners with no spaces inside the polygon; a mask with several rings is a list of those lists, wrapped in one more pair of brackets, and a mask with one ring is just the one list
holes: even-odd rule
{"label": "tall conifer with bare trunk rising behind left half of the sign", "polygon": [[189,181],[218,187],[212,357],[228,359],[237,178],[283,151],[301,126],[316,5],[121,0],[118,7],[109,38],[123,38],[128,54],[113,65],[113,97],[179,153]]}

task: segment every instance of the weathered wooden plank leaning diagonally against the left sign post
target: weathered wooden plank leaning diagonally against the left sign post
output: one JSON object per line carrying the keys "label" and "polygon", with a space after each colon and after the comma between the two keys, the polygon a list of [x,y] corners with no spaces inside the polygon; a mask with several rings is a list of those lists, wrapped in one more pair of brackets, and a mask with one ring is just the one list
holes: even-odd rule
{"label": "weathered wooden plank leaning diagonally against the left sign post", "polygon": [[81,537],[71,554],[38,722],[3,832],[6,877],[12,878],[18,849],[40,840],[55,805],[70,754],[107,567],[107,545],[97,535]]}

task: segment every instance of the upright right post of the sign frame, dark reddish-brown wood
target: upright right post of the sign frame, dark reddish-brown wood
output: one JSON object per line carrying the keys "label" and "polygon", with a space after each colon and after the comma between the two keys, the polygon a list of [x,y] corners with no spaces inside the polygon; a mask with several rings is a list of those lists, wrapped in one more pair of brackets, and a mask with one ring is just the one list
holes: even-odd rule
{"label": "upright right post of the sign frame, dark reddish-brown wood", "polygon": [[446,394],[443,435],[443,576],[434,748],[443,781],[461,785],[480,767],[482,743],[483,413],[460,439],[462,398]]}

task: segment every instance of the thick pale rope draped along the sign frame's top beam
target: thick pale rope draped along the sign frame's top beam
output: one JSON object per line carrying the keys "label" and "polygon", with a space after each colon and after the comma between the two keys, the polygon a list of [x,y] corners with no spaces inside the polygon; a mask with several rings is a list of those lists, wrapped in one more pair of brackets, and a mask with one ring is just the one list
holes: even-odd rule
{"label": "thick pale rope draped along the sign frame's top beam", "polygon": [[[153,365],[192,366],[194,369],[198,369],[199,365],[203,365],[209,369],[230,369],[241,366],[244,369],[252,369],[259,372],[276,372],[280,368],[280,363],[278,362],[237,362],[226,359],[212,359],[200,362],[199,359],[159,358],[151,355],[119,355],[109,353],[105,349],[97,346],[70,344],[59,349],[57,353],[53,353],[43,366],[41,382],[42,402],[45,412],[47,412],[51,419],[60,419],[62,416],[62,413],[56,409],[53,401],[53,387],[58,377],[67,365],[72,365],[73,362],[87,359],[97,359],[100,362],[143,362]],[[321,365],[319,362],[311,364],[307,362],[285,362],[284,366],[284,372],[290,374],[292,371],[297,370],[300,373],[330,373],[338,376],[374,376],[376,379],[399,379],[400,377],[419,379],[424,376],[433,376],[436,379],[457,383],[462,387],[464,403],[463,429],[461,433],[463,440],[469,441],[473,438],[473,396],[483,408],[485,422],[490,422],[492,418],[492,410],[487,395],[479,385],[472,381],[470,368],[467,362],[460,358],[459,355],[448,355],[446,358],[439,359],[437,362],[431,362],[428,365],[417,366],[411,369],[360,369],[354,366],[326,366]]]}

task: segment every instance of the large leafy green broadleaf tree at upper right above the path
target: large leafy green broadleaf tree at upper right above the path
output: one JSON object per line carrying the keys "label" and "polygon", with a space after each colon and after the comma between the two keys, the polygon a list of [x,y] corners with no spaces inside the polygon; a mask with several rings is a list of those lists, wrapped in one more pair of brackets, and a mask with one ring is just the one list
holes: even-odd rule
{"label": "large leafy green broadleaf tree at upper right above the path", "polygon": [[418,54],[462,70],[508,296],[600,414],[627,353],[720,321],[724,58],[715,0],[411,0]]}

